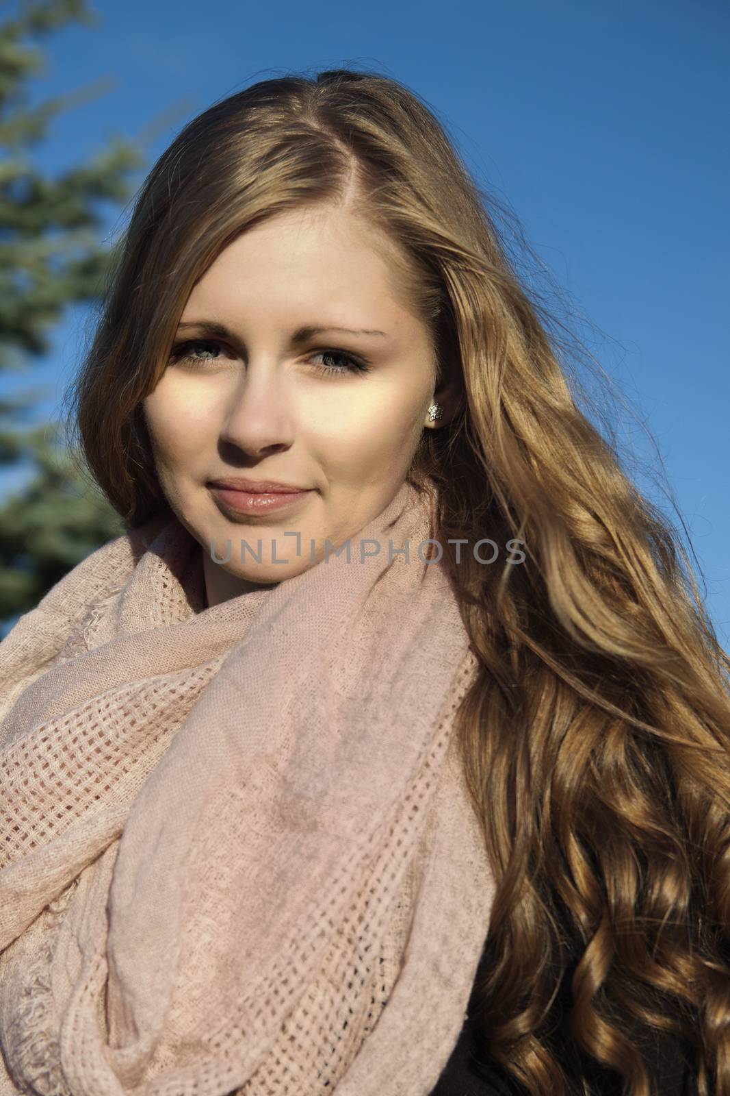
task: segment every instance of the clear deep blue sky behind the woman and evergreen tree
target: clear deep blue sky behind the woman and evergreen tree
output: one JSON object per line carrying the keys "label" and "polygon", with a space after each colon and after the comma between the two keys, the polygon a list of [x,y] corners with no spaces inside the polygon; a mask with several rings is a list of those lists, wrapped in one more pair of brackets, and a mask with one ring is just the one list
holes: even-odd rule
{"label": "clear deep blue sky behind the woman and evergreen tree", "polygon": [[[728,647],[725,0],[100,0],[93,10],[94,27],[71,24],[47,39],[48,67],[34,80],[34,101],[106,82],[96,101],[54,123],[37,152],[51,172],[114,133],[143,139],[151,167],[215,100],[302,69],[372,68],[437,111],[479,184],[515,213],[568,295],[575,315],[561,319],[656,438]],[[115,215],[108,229],[123,224]],[[23,374],[0,375],[4,389],[46,386],[43,413],[57,418],[89,319],[69,308],[51,353]],[[626,453],[659,468],[637,422],[619,418],[618,427]],[[0,494],[23,475],[3,473]],[[637,480],[676,523],[668,500],[639,472]]]}

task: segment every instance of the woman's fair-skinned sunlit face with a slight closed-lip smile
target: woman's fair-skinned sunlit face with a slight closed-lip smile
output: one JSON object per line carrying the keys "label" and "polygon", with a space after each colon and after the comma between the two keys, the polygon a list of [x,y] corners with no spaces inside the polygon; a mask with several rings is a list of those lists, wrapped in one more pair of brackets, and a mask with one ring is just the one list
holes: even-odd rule
{"label": "woman's fair-skinned sunlit face with a slight closed-lip smile", "polygon": [[[340,210],[280,215],[225,248],[185,305],[143,408],[160,486],[204,548],[209,605],[299,574],[325,540],[354,537],[396,494],[421,431],[438,425],[427,414],[439,399],[428,329],[369,239]],[[231,477],[305,492],[239,512],[211,487]],[[211,557],[229,548],[228,562]]]}

